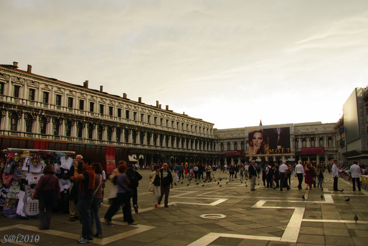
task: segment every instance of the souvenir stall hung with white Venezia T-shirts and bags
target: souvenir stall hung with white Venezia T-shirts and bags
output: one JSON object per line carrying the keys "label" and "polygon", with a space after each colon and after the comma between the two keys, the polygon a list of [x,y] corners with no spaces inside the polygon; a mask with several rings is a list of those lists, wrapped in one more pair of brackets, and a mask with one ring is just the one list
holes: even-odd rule
{"label": "souvenir stall hung with white Venezia T-shirts and bags", "polygon": [[0,160],[0,213],[8,218],[38,218],[38,200],[31,197],[46,165],[52,165],[59,178],[62,198],[59,211],[66,212],[64,203],[68,202],[67,190],[74,172],[74,160],[69,156],[75,156],[74,151],[11,148],[1,151],[5,159]]}

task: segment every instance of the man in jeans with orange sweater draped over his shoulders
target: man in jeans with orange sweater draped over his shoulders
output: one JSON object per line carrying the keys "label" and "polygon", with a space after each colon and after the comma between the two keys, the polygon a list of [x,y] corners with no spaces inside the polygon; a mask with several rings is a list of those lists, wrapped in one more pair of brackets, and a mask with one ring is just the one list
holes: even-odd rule
{"label": "man in jeans with orange sweater draped over his shoulders", "polygon": [[[78,173],[79,165],[81,165],[79,167],[81,174]],[[82,234],[78,243],[93,242],[89,208],[93,201],[95,177],[95,167],[91,167],[91,160],[88,157],[82,158],[80,164],[78,161],[74,162],[74,179],[80,181],[78,186],[78,211],[81,212],[79,213],[79,222],[82,224]]]}

